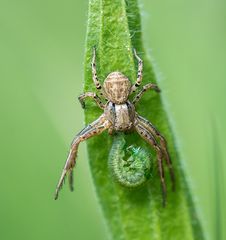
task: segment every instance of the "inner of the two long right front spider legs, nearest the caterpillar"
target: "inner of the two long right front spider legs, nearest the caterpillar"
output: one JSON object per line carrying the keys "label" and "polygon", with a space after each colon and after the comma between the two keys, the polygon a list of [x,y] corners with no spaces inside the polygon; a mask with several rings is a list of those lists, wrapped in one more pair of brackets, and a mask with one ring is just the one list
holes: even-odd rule
{"label": "inner of the two long right front spider legs, nearest the caterpillar", "polygon": [[161,188],[162,188],[162,204],[165,207],[166,205],[166,184],[165,184],[165,177],[164,177],[164,168],[162,164],[162,151],[159,147],[157,141],[153,137],[153,135],[148,131],[147,128],[143,127],[141,124],[137,124],[135,126],[135,129],[137,130],[138,134],[147,141],[151,146],[154,147],[157,153],[157,160],[158,160],[158,170],[159,170],[159,176],[161,181]]}

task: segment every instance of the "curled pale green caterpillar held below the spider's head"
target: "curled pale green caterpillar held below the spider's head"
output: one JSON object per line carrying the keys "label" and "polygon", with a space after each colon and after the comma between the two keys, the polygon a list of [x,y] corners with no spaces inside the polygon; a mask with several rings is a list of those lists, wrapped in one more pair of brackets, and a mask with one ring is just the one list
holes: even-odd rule
{"label": "curled pale green caterpillar held below the spider's head", "polygon": [[109,154],[109,167],[122,186],[139,187],[151,177],[151,155],[144,148],[127,146],[124,134],[118,133]]}

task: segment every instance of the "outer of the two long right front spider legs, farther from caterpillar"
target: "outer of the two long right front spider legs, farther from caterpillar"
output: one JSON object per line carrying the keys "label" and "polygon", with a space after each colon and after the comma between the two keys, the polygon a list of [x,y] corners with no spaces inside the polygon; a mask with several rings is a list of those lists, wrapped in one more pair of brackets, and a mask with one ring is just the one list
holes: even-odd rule
{"label": "outer of the two long right front spider legs, farther from caterpillar", "polygon": [[150,131],[156,139],[159,139],[161,150],[164,153],[166,164],[167,164],[167,167],[168,167],[169,172],[170,172],[170,178],[171,178],[171,182],[172,182],[172,190],[175,191],[175,174],[174,174],[174,171],[173,171],[173,165],[172,165],[172,161],[171,161],[168,149],[167,149],[167,142],[166,142],[165,138],[155,128],[155,126],[151,122],[149,122],[147,119],[138,115],[137,116],[137,121],[143,127],[148,129],[148,131]]}

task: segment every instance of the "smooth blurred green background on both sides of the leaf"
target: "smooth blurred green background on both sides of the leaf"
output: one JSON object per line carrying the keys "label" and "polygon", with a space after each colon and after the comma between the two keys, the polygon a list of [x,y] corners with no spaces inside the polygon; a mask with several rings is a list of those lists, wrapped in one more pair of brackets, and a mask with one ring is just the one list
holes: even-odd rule
{"label": "smooth blurred green background on both sides of the leaf", "polygon": [[[226,215],[226,2],[140,3],[146,48],[205,229],[214,239],[216,206]],[[87,6],[75,0],[0,1],[0,239],[107,239],[85,144],[75,191],[65,186],[53,200],[69,144],[84,125],[77,96]]]}

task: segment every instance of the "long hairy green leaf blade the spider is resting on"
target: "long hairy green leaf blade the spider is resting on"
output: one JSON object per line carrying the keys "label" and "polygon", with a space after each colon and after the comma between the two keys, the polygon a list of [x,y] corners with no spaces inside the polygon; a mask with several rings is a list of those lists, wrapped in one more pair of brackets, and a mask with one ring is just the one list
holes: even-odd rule
{"label": "long hairy green leaf blade the spider is resting on", "polygon": [[[156,76],[144,51],[136,0],[90,0],[85,54],[85,91],[96,91],[91,75],[92,49],[97,49],[97,72],[101,82],[113,71],[120,71],[134,82],[137,63],[133,48],[144,62],[142,84],[156,83]],[[162,91],[164,95],[164,89]],[[150,183],[130,190],[120,186],[108,169],[112,136],[107,132],[87,141],[90,169],[97,196],[111,236],[116,240],[204,239],[192,196],[175,146],[174,135],[161,100],[162,95],[147,92],[137,105],[137,112],[150,120],[165,136],[176,172],[176,192],[171,191],[166,171],[167,205],[162,207],[160,180],[155,171]],[[85,110],[86,124],[101,111],[89,101]],[[136,133],[127,141],[147,146]],[[154,152],[153,152],[154,153]]]}

